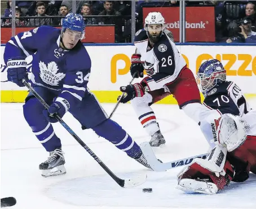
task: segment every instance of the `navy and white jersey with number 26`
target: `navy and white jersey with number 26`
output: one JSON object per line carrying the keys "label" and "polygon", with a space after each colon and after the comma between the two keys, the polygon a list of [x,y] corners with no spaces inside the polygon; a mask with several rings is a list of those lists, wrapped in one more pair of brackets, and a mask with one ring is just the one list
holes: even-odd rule
{"label": "navy and white jersey with number 26", "polygon": [[162,33],[160,41],[151,47],[147,32],[144,29],[139,30],[135,34],[134,45],[137,54],[142,55],[140,60],[151,78],[147,81],[150,91],[164,88],[186,67],[183,56],[165,33]]}

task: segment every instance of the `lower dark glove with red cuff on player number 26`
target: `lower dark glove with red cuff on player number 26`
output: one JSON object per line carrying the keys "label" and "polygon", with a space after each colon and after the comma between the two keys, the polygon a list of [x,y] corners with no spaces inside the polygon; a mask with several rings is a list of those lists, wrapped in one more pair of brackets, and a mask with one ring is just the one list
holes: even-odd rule
{"label": "lower dark glove with red cuff on player number 26", "polygon": [[[127,103],[128,101],[134,99],[134,97],[142,97],[145,94],[145,88],[140,83],[134,83],[134,85],[121,86],[120,91],[125,92],[121,103]],[[118,97],[119,100],[120,97]]]}

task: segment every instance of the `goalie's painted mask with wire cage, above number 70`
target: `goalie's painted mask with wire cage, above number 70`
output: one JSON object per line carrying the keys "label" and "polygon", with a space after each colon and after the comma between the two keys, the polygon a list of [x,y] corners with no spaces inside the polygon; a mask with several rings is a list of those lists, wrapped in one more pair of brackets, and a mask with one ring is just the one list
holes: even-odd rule
{"label": "goalie's painted mask with wire cage, above number 70", "polygon": [[226,81],[226,70],[219,60],[208,60],[201,64],[196,80],[202,94],[206,96],[214,86]]}

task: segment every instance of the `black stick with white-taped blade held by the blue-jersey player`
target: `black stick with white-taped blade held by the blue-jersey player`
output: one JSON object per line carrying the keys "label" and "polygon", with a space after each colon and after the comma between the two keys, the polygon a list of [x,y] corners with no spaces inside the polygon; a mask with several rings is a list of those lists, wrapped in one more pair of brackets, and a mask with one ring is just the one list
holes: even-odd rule
{"label": "black stick with white-taped blade held by the blue-jersey player", "polygon": [[[40,101],[40,103],[46,108],[49,109],[49,105],[45,102],[45,100],[43,100],[43,98],[33,89],[33,87],[31,87],[29,85],[29,83],[27,81],[25,81],[25,79],[23,79],[23,84],[29,89],[29,91],[38,99],[38,101]],[[147,175],[141,175],[138,177],[135,177],[134,179],[120,179],[119,177],[117,177],[115,174],[113,174],[113,172],[111,170],[109,170],[109,168],[96,156],[96,154],[94,154],[94,152],[92,152],[92,150],[80,139],[80,137],[78,137],[74,131],[72,131],[72,129],[67,125],[67,123],[65,123],[58,114],[54,114],[54,117],[60,122],[60,124],[65,128],[65,130],[67,130],[69,132],[70,135],[72,135],[74,137],[74,139],[76,139],[76,141],[83,147],[85,148],[85,150],[87,151],[87,153],[89,153],[91,155],[91,157],[93,157],[95,159],[95,161],[97,161],[101,168],[103,168],[109,176],[112,177],[112,179],[114,181],[116,181],[116,183],[122,187],[134,187],[134,186],[138,186],[141,185],[145,182],[145,180],[147,179]]]}

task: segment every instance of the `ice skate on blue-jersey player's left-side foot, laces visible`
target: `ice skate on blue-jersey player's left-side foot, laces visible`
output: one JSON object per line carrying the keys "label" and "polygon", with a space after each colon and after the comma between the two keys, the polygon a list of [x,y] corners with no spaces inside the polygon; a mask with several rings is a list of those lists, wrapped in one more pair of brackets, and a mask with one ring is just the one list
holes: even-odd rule
{"label": "ice skate on blue-jersey player's left-side foot, laces visible", "polygon": [[45,162],[39,164],[39,170],[42,170],[43,177],[64,175],[66,173],[63,154],[61,148],[57,148],[50,152],[50,156]]}

